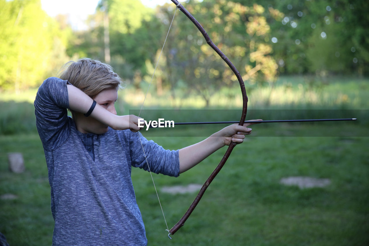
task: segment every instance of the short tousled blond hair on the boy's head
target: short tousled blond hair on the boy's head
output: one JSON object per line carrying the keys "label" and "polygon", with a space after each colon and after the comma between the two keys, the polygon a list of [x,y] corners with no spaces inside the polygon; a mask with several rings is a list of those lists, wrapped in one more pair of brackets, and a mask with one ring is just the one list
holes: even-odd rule
{"label": "short tousled blond hair on the boy's head", "polygon": [[59,73],[59,78],[67,80],[90,98],[95,98],[105,89],[125,87],[125,83],[110,65],[90,58],[67,62]]}

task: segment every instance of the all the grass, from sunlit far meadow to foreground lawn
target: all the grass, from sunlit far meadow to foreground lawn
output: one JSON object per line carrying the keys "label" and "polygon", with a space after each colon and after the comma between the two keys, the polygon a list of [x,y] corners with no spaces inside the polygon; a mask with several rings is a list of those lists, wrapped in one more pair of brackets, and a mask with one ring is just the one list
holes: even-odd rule
{"label": "all the grass, from sunlit far meadow to foreground lawn", "polygon": [[[334,116],[337,112],[346,115],[344,110],[348,109],[350,117],[358,117],[359,121],[252,126],[253,134],[234,149],[172,241],[167,237],[150,175],[134,168],[132,181],[148,245],[369,245],[368,85],[368,79],[315,81],[285,77],[273,90],[248,86],[249,108],[255,109],[248,112],[249,117],[302,118],[315,117],[317,112],[319,117]],[[120,93],[118,113],[139,109],[141,92],[127,89]],[[156,117],[163,108],[173,109],[168,107],[170,102],[176,106],[168,111],[169,115],[184,119],[238,117],[237,93],[238,88],[222,89],[207,111],[199,110],[203,101],[196,96],[178,93],[179,97],[172,99],[169,95],[149,95],[144,109],[150,109]],[[0,95],[0,195],[17,196],[0,199],[0,232],[11,246],[50,245],[54,228],[45,157],[34,126],[34,94],[35,90]],[[182,106],[177,107],[179,102]],[[183,126],[166,131],[151,129],[143,134],[165,148],[178,149],[221,127]],[[9,152],[23,154],[24,173],[8,171]],[[187,210],[196,192],[170,195],[161,188],[202,185],[224,152],[225,148],[217,151],[178,178],[154,175],[169,229]],[[289,176],[329,178],[331,184],[299,189],[279,183]]]}

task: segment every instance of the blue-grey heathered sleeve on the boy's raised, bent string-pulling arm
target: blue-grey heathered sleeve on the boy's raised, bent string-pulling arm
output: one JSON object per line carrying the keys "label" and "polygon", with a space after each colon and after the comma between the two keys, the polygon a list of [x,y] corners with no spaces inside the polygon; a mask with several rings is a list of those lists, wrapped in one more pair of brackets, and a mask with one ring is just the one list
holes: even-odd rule
{"label": "blue-grey heathered sleeve on the boy's raised, bent string-pulling arm", "polygon": [[59,78],[48,78],[37,91],[36,126],[45,150],[54,150],[69,136],[67,83]]}

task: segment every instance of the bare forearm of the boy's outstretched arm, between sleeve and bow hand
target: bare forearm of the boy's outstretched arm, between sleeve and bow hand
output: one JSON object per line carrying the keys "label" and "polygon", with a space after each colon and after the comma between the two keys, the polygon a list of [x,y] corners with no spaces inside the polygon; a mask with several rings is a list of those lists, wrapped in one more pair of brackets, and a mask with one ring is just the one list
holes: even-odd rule
{"label": "bare forearm of the boy's outstretched arm, between sleeve and bow hand", "polygon": [[207,139],[179,150],[179,173],[189,170],[224,146],[222,137]]}

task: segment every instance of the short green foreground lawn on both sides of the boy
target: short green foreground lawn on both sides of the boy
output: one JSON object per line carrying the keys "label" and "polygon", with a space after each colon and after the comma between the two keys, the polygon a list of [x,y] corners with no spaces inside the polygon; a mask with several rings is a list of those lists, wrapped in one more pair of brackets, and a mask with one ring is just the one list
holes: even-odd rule
{"label": "short green foreground lawn on both sides of the boy", "polygon": [[[310,127],[320,130],[317,125]],[[258,128],[264,134],[279,130],[277,126],[254,127],[256,136],[249,136],[235,148],[173,240],[167,237],[150,175],[139,169],[132,171],[149,245],[368,245],[368,137],[262,137],[257,136]],[[200,140],[153,139],[170,149]],[[50,188],[38,136],[1,136],[0,148],[0,195],[17,196],[0,200],[0,231],[10,245],[50,245]],[[14,151],[25,158],[23,174],[7,169],[6,153]],[[161,192],[161,187],[202,184],[224,151],[219,150],[178,178],[154,174],[169,229],[196,193],[170,195]],[[301,190],[279,183],[289,176],[329,178],[331,184]]]}

